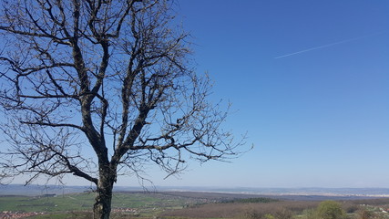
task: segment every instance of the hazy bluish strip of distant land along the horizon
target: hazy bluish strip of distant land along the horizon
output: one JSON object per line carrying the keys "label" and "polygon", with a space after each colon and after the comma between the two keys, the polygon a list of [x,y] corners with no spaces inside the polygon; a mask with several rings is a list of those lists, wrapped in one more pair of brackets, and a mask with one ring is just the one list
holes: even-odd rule
{"label": "hazy bluish strip of distant land along the horizon", "polygon": [[[93,187],[69,185],[27,185],[9,184],[0,186],[0,195],[41,195],[45,193],[86,193]],[[331,197],[389,197],[389,188],[252,188],[252,187],[207,187],[207,186],[116,186],[116,193],[128,192],[189,192],[189,193],[241,193],[257,195],[286,196],[331,196]],[[309,197],[307,197],[309,198]]]}

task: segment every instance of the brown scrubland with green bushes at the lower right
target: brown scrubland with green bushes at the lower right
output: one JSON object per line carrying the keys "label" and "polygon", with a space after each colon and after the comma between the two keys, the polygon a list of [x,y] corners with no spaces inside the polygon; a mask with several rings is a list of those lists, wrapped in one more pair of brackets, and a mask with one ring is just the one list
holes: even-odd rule
{"label": "brown scrubland with green bushes at the lower right", "polygon": [[208,203],[161,214],[164,219],[384,219],[389,199]]}

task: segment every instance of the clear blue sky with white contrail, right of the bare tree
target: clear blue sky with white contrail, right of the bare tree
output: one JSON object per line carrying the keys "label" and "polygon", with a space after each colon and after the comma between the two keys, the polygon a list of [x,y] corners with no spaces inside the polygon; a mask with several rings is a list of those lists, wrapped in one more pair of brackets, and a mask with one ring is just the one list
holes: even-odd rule
{"label": "clear blue sky with white contrail, right of the bare tree", "polygon": [[389,187],[389,1],[179,1],[197,69],[255,148],[160,185]]}

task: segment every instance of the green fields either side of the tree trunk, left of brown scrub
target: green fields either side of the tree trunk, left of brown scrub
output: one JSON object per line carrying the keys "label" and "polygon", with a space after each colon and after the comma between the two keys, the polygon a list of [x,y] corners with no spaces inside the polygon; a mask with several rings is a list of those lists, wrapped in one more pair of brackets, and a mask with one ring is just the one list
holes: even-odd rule
{"label": "green fields either side of the tree trunk, left of brown scrub", "polygon": [[[94,193],[72,193],[56,197],[0,196],[0,212],[42,212],[34,218],[70,218],[77,214],[90,214]],[[180,197],[165,193],[115,193],[112,200],[116,215],[151,217],[166,210],[180,209],[190,204],[204,202],[196,198]],[[120,217],[121,218],[121,217]]]}

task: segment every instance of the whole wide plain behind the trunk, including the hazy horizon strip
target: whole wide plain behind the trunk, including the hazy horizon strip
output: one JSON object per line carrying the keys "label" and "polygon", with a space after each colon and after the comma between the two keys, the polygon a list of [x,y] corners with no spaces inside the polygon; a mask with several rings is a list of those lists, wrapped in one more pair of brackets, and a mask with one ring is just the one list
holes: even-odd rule
{"label": "whole wide plain behind the trunk, including the hazy horizon strip", "polygon": [[[95,197],[92,189],[3,185],[0,186],[0,214],[35,212],[38,214],[28,218],[90,218]],[[389,209],[389,198],[384,198],[387,189],[119,189],[113,197],[112,218],[261,218],[265,214],[289,218],[306,214],[323,200],[342,203],[350,215],[357,214],[361,206]]]}

